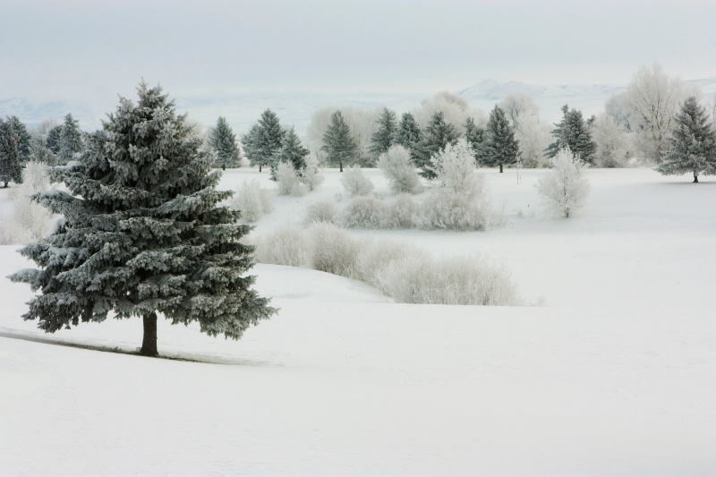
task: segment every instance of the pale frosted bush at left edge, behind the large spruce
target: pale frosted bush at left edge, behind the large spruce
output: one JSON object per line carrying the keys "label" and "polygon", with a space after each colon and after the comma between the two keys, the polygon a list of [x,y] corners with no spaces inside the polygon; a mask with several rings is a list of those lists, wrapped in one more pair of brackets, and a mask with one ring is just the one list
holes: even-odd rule
{"label": "pale frosted bush at left edge, behind the large spruce", "polygon": [[52,214],[31,199],[32,194],[49,189],[47,166],[30,161],[22,170],[22,183],[9,195],[13,199],[14,213],[3,217],[0,224],[0,244],[37,242],[50,232]]}

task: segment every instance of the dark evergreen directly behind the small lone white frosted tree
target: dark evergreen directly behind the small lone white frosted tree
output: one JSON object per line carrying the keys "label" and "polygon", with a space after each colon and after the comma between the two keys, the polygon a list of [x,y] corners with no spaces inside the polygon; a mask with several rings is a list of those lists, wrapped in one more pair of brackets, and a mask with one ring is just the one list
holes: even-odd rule
{"label": "dark evergreen directly behind the small lone white frosted tree", "polygon": [[[594,118],[590,118],[591,124]],[[562,106],[562,121],[555,124],[552,136],[556,141],[552,142],[545,153],[548,158],[554,158],[562,149],[569,149],[575,158],[579,158],[584,164],[594,165],[594,153],[597,145],[592,141],[592,131],[582,117],[582,111],[571,110],[567,105]]]}

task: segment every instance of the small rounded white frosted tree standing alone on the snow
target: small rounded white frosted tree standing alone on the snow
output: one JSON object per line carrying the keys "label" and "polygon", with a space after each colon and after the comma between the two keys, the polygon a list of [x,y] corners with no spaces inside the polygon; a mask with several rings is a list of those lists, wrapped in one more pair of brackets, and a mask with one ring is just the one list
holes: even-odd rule
{"label": "small rounded white frosted tree standing alone on the snow", "polygon": [[562,149],[551,159],[551,167],[548,175],[535,184],[542,204],[558,217],[572,217],[589,195],[584,163],[569,149]]}

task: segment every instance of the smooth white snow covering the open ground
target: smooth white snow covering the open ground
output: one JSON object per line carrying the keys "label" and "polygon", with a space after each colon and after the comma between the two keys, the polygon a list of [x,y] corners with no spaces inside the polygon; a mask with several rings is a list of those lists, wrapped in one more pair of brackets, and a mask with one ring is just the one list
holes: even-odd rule
{"label": "smooth white snow covering the open ground", "polygon": [[[716,178],[590,170],[587,207],[558,220],[538,207],[545,171],[485,174],[504,228],[353,233],[485,251],[543,306],[397,304],[258,265],[277,317],[238,342],[162,322],[161,353],[203,362],[152,360],[16,339],[133,350],[141,321],[38,332],[4,278],[28,264],[0,247],[0,474],[716,473]],[[256,233],[336,200],[338,177],[276,197]],[[274,187],[253,169],[222,186],[253,178]]]}

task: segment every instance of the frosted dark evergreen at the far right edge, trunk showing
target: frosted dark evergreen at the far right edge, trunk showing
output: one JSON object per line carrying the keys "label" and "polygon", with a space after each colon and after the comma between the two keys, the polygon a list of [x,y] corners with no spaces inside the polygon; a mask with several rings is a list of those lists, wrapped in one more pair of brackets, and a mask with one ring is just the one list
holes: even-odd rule
{"label": "frosted dark evergreen at the far right edge, trunk showing", "polygon": [[656,170],[663,175],[692,173],[695,183],[699,175],[716,175],[716,131],[706,108],[691,96],[674,123],[669,137],[671,147]]}

